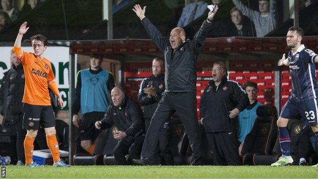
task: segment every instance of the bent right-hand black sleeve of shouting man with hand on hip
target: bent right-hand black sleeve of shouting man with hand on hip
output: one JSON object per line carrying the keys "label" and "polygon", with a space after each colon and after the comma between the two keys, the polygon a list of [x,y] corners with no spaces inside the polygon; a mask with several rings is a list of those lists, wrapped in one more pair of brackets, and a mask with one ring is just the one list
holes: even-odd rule
{"label": "bent right-hand black sleeve of shouting man with hand on hip", "polygon": [[247,97],[245,90],[239,83],[234,82],[232,86],[233,86],[232,99],[237,104],[235,108],[239,109],[240,111],[243,111],[249,105],[250,100]]}

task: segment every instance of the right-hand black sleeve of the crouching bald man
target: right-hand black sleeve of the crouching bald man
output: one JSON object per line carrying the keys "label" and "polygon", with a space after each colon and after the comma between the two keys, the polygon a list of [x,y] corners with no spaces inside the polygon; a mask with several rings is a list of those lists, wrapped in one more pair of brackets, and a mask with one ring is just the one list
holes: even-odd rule
{"label": "right-hand black sleeve of the crouching bald man", "polygon": [[128,107],[128,113],[131,119],[131,125],[125,131],[127,136],[134,136],[141,130],[142,119],[141,119],[141,110],[137,103],[133,103]]}

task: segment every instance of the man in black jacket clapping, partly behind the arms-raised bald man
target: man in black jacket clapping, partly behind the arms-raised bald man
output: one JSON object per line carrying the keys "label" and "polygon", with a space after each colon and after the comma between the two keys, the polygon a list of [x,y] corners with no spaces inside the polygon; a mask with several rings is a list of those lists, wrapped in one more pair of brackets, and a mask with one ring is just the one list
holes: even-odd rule
{"label": "man in black jacket clapping, partly behind the arms-raised bald man", "polygon": [[[152,75],[142,81],[138,92],[139,103],[144,105],[145,129],[148,130],[150,120],[157,109],[158,103],[165,91],[165,59],[156,57],[152,60]],[[160,154],[167,165],[173,165],[173,158],[169,148],[171,137],[170,116],[167,116],[165,124],[160,128],[158,147],[155,159],[160,159]]]}

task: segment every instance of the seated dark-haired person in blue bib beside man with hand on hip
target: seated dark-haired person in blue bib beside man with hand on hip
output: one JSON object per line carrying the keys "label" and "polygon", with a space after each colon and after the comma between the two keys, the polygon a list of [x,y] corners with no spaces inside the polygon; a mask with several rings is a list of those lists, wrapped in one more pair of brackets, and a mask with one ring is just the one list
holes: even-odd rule
{"label": "seated dark-haired person in blue bib beside man with hand on hip", "polygon": [[237,139],[241,143],[239,146],[240,156],[242,155],[241,151],[244,144],[244,139],[246,135],[251,132],[255,119],[257,117],[256,110],[259,106],[262,106],[262,104],[259,103],[256,99],[258,91],[257,84],[247,81],[243,87],[250,100],[250,104],[239,114],[239,129],[237,130]]}

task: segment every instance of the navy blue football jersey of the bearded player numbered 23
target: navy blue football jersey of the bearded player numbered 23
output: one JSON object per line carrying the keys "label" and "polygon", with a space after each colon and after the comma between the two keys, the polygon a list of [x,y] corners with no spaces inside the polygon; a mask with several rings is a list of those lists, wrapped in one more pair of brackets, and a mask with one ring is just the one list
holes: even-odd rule
{"label": "navy blue football jersey of the bearded player numbered 23", "polygon": [[295,53],[288,53],[289,71],[292,76],[292,97],[297,101],[316,98],[318,85],[314,59],[317,55],[301,45]]}

